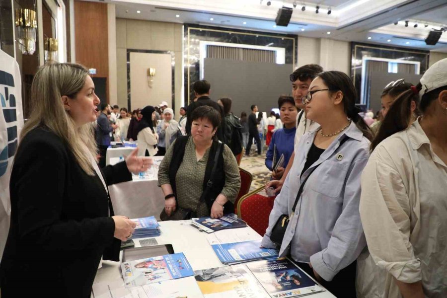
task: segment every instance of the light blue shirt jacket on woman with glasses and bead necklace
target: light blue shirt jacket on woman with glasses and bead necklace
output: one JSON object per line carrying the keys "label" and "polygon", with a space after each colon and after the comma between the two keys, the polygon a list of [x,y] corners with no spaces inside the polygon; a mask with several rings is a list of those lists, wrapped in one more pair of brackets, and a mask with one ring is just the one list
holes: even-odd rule
{"label": "light blue shirt jacket on woman with glasses and bead necklace", "polygon": [[[313,163],[300,173],[316,131],[298,143],[294,164],[270,213],[261,245],[274,248],[270,233],[282,214],[291,215],[301,182],[320,164],[304,185],[280,249],[298,262],[311,263],[326,281],[354,262],[366,246],[359,214],[360,178],[369,158],[370,142],[352,123]],[[341,146],[340,141],[349,139]]]}

